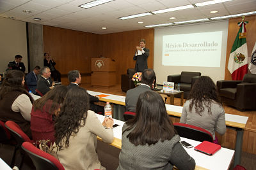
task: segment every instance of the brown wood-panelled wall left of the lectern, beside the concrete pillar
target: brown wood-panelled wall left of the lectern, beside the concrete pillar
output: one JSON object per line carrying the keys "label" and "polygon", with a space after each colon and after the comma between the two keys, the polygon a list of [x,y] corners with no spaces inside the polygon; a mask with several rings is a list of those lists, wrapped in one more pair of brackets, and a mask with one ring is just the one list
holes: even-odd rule
{"label": "brown wood-panelled wall left of the lectern, beside the concrete pillar", "polygon": [[44,25],[44,52],[49,52],[61,74],[77,69],[91,73],[91,58],[98,57],[98,34]]}

